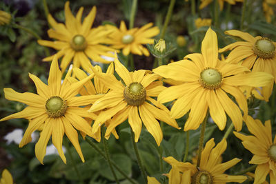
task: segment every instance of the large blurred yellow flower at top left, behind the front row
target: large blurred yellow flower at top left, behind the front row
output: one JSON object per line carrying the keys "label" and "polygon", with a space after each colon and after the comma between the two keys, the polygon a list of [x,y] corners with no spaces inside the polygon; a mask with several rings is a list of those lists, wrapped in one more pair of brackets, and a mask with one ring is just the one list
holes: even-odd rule
{"label": "large blurred yellow flower at top left, behind the front row", "polygon": [[[113,57],[111,51],[114,49],[103,45],[110,43],[108,34],[113,30],[107,29],[106,26],[91,28],[96,15],[96,7],[94,6],[88,16],[81,23],[83,7],[79,8],[77,16],[74,17],[69,8],[69,1],[65,4],[66,23],[57,23],[52,16],[48,15],[48,21],[52,29],[48,30],[48,35],[57,41],[39,40],[40,45],[44,45],[55,50],[57,57],[63,57],[61,60],[61,72],[63,73],[69,63],[73,61],[73,65],[77,68],[81,67],[89,71],[92,67],[90,60],[101,63],[110,63],[101,57]],[[53,56],[46,57],[43,61],[52,61]]]}

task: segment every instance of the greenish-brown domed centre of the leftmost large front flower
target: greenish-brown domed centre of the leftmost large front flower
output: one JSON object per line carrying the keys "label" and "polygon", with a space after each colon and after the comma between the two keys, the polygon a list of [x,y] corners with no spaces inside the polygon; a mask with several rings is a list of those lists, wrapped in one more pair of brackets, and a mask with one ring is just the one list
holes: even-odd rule
{"label": "greenish-brown domed centre of the leftmost large front flower", "polygon": [[59,96],[52,96],[46,101],[46,111],[49,117],[59,118],[66,112],[67,105],[66,101],[63,101]]}

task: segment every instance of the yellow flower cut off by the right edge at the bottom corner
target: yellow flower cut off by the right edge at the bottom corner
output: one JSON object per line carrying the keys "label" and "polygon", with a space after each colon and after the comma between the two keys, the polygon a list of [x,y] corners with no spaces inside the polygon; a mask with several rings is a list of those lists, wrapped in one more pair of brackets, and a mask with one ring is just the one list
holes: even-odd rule
{"label": "yellow flower cut off by the right edge at the bottom corner", "polygon": [[[246,126],[254,136],[245,136],[234,132],[242,140],[244,147],[254,154],[250,164],[257,164],[254,184],[266,181],[269,174],[270,183],[276,183],[276,138],[272,141],[270,120],[264,125],[251,116],[246,119]],[[275,136],[276,137],[276,136]]]}

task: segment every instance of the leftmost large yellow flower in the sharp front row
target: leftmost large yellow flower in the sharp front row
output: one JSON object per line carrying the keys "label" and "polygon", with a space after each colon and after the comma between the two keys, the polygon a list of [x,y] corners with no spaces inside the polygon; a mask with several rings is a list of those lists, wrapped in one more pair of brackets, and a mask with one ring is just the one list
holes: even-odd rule
{"label": "leftmost large yellow flower in the sharp front row", "polygon": [[19,147],[30,143],[32,141],[32,132],[42,127],[39,141],[35,145],[35,155],[42,164],[46,154],[46,146],[51,135],[52,143],[57,147],[59,156],[61,156],[64,163],[66,163],[66,157],[62,150],[64,133],[76,148],[83,162],[83,154],[75,129],[92,136],[92,128],[83,117],[96,119],[97,116],[93,113],[88,113],[84,108],[79,108],[79,106],[89,105],[92,97],[76,95],[79,93],[79,89],[83,84],[90,80],[93,75],[72,84],[68,80],[69,75],[70,72],[68,72],[61,85],[62,74],[59,70],[57,57],[54,57],[50,67],[48,85],[43,83],[37,76],[29,74],[30,79],[34,81],[37,87],[37,94],[29,92],[19,93],[11,88],[4,89],[6,99],[26,103],[28,107],[21,112],[6,116],[0,119],[0,121],[17,118],[29,120],[28,128],[21,143],[19,143]]}

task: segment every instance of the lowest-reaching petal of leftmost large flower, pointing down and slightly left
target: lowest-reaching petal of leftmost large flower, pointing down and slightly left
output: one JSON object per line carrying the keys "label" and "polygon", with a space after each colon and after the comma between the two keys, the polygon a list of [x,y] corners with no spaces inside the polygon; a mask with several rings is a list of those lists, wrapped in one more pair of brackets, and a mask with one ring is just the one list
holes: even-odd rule
{"label": "lowest-reaching petal of leftmost large flower, pointing down and slightly left", "polygon": [[52,134],[53,123],[56,123],[54,119],[46,119],[43,130],[40,133],[39,141],[35,144],[35,156],[37,156],[37,159],[41,164],[43,164],[43,159],[46,154],[46,147]]}

